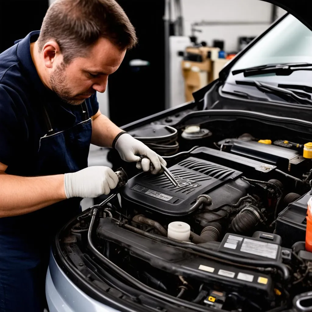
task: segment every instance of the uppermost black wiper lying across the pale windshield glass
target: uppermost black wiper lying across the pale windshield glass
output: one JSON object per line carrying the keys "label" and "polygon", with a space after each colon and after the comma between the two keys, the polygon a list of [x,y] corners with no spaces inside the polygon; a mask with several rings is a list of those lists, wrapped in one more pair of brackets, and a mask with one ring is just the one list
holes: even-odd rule
{"label": "uppermost black wiper lying across the pale windshield glass", "polygon": [[244,73],[245,77],[261,74],[275,74],[276,76],[289,76],[294,71],[312,71],[312,64],[288,63],[278,65],[262,65],[256,67],[249,67],[245,69],[237,69],[232,71],[232,75]]}

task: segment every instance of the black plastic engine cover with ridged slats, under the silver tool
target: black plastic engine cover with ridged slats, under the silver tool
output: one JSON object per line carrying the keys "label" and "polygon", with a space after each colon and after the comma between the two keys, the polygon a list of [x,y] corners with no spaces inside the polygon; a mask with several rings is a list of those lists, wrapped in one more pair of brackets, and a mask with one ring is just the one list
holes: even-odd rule
{"label": "black plastic engine cover with ridged slats, under the silver tool", "polygon": [[[184,186],[173,186],[163,173],[156,176],[140,173],[131,178],[122,190],[122,204],[132,203],[166,215],[185,216],[199,195],[209,195],[213,190],[232,184],[233,180],[240,180],[236,185],[241,189],[239,193],[246,192],[246,183],[238,178],[242,174],[240,171],[203,159],[189,157],[169,170]],[[222,191],[218,193],[221,199]],[[212,198],[213,202],[215,199]],[[232,203],[231,200],[228,203]]]}

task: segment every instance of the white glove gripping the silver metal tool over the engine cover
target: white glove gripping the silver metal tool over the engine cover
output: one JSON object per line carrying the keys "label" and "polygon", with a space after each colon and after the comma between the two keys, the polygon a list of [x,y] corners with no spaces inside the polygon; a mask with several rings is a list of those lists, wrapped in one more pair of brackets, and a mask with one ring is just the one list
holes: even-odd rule
{"label": "white glove gripping the silver metal tool over the engine cover", "polygon": [[[120,135],[115,144],[115,149],[118,151],[121,159],[127,162],[137,162],[136,167],[143,169],[144,171],[150,170],[150,162],[153,164],[154,169],[151,173],[156,174],[161,170],[160,163],[167,166],[165,160],[147,147],[141,141],[134,139],[130,134],[124,133]],[[143,158],[142,162],[140,157],[136,155],[144,155],[147,158]]]}

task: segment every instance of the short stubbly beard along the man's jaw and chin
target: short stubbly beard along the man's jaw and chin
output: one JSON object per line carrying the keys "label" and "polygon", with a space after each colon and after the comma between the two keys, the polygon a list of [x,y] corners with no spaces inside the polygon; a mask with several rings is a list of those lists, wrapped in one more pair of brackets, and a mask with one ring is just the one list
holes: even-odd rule
{"label": "short stubbly beard along the man's jaw and chin", "polygon": [[52,90],[66,103],[71,105],[80,105],[85,100],[75,100],[71,93],[71,88],[68,86],[66,76],[64,75],[66,65],[64,62],[56,66],[56,69],[51,73],[49,82]]}

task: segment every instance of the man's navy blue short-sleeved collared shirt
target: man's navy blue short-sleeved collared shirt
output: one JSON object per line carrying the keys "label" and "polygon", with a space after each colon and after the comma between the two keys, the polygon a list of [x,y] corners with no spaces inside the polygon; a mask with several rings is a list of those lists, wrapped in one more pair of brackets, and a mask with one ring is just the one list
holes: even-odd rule
{"label": "man's navy blue short-sleeved collared shirt", "polygon": [[[30,53],[30,44],[38,36],[39,31],[31,32],[0,54],[0,162],[8,166],[8,174],[36,175],[34,156],[47,133],[43,104],[56,132],[83,118],[81,105],[66,104],[41,82]],[[89,115],[95,115],[99,110],[96,95],[85,101]]]}

